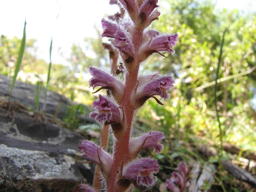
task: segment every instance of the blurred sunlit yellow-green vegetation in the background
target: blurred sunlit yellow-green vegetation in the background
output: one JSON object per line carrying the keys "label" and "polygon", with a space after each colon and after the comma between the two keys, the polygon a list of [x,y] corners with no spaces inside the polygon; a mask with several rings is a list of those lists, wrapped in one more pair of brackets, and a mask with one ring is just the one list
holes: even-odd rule
{"label": "blurred sunlit yellow-green vegetation in the background", "polygon": [[[162,163],[165,157],[172,161],[177,157],[190,160],[189,156],[193,156],[201,161],[202,158],[186,146],[191,141],[220,146],[218,110],[223,142],[242,150],[256,151],[256,111],[252,109],[253,102],[250,103],[255,94],[252,90],[256,88],[256,13],[217,10],[210,0],[159,0],[159,4],[161,16],[151,27],[166,34],[178,33],[179,39],[174,47],[175,54],[165,53],[167,59],[158,54],[151,56],[143,64],[142,73],[161,71],[161,74],[169,74],[175,79],[175,87],[171,99],[161,100],[164,106],[150,99],[138,112],[134,128],[165,133],[165,142],[169,145],[155,156]],[[216,109],[214,85],[225,30]],[[13,74],[20,42],[16,37],[10,39],[1,35],[0,74]],[[70,106],[63,120],[70,129],[81,125],[74,117],[88,114],[91,103],[97,98],[98,93],[91,94],[92,89],[88,88],[88,67],[107,69],[110,66],[101,38],[85,38],[84,43],[85,47],[77,43],[71,47],[71,55],[67,58],[69,66],[60,63],[51,66],[49,89],[89,106]],[[28,39],[18,79],[46,86],[48,63],[37,58],[37,51],[36,39]],[[41,89],[37,87],[37,90]],[[97,125],[93,126],[99,130]],[[89,128],[80,126],[80,130]],[[173,140],[185,141],[185,145],[173,143]]]}

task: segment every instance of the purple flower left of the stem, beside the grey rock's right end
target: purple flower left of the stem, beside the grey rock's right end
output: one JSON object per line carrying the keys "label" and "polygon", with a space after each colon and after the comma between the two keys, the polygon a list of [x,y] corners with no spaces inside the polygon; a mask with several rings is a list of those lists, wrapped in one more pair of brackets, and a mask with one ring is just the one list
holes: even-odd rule
{"label": "purple flower left of the stem, beside the grey rock's right end", "polygon": [[78,149],[82,152],[82,156],[98,164],[104,173],[110,172],[112,165],[112,157],[95,143],[87,140],[80,140]]}

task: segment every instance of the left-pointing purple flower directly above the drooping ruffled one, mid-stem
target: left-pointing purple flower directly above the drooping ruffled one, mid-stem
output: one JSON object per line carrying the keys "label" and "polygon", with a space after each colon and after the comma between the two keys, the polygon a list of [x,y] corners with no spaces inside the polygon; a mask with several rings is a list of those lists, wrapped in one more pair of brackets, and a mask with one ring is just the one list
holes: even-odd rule
{"label": "left-pointing purple flower directly above the drooping ruffled one, mid-stem", "polygon": [[111,90],[116,101],[120,101],[122,99],[124,85],[121,81],[94,67],[90,67],[89,71],[92,75],[92,78],[89,80],[89,86],[92,86],[93,89],[95,89],[96,86],[102,86],[101,89]]}

